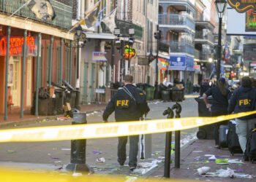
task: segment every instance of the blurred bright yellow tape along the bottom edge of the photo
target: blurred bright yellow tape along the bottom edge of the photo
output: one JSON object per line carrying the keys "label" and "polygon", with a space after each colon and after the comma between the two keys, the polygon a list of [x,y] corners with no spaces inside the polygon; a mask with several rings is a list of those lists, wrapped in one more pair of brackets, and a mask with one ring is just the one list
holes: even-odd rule
{"label": "blurred bright yellow tape along the bottom edge of the photo", "polygon": [[[72,176],[70,173],[54,173],[45,174],[42,171],[24,171],[24,170],[0,170],[0,181],[2,182],[85,182],[85,181],[104,181],[104,182],[121,182],[121,181],[174,181],[182,182],[178,179],[159,179],[159,178],[135,178],[131,176],[107,176],[107,175],[80,175]],[[190,180],[186,180],[190,181]]]}

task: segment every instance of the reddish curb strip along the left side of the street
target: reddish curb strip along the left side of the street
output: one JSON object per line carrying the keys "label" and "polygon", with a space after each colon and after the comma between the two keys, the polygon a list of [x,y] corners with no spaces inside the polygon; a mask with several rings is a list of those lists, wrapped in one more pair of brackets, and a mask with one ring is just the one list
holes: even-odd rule
{"label": "reddish curb strip along the left side of the street", "polygon": [[[102,111],[102,109],[98,109],[98,110],[94,110],[94,111],[99,112],[99,111]],[[93,113],[94,111],[83,111],[83,112],[86,112],[86,114],[90,114],[90,113]],[[22,119],[22,120],[12,121],[12,122],[2,122],[2,123],[0,123],[0,129],[5,128],[5,127],[22,126],[25,124],[34,124],[37,122],[42,122],[42,120],[44,120],[44,119],[55,120],[60,116],[64,116],[64,115],[62,114],[62,115],[56,115],[56,116],[38,116],[37,118]]]}

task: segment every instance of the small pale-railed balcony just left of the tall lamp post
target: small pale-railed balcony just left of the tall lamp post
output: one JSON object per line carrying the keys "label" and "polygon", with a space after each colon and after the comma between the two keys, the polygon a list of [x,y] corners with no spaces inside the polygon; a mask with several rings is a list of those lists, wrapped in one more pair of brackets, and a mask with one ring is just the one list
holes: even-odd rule
{"label": "small pale-railed balcony just left of the tall lamp post", "polygon": [[211,32],[196,31],[195,44],[214,45],[214,35]]}

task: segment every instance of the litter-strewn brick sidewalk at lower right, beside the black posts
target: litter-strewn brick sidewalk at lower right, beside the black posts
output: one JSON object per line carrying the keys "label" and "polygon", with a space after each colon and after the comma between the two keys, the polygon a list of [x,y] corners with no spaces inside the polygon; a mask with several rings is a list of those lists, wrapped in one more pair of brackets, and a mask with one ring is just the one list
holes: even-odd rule
{"label": "litter-strewn brick sidewalk at lower right, beside the black posts", "polygon": [[[232,156],[228,149],[214,149],[213,140],[197,140],[187,146],[186,149],[181,151],[181,167],[180,169],[174,168],[174,161],[171,164],[170,178],[176,179],[189,179],[197,181],[255,181],[256,164],[251,162],[244,162],[244,164],[225,164],[219,165],[215,160],[208,159],[209,156],[215,155],[217,159],[238,159],[242,160],[242,154],[234,154]],[[219,177],[206,177],[197,173],[197,168],[211,167],[209,172],[216,172],[219,169],[227,170],[227,167],[237,173],[244,173],[252,175],[250,178],[219,178]],[[165,167],[162,166],[151,173],[149,177],[163,178]]]}

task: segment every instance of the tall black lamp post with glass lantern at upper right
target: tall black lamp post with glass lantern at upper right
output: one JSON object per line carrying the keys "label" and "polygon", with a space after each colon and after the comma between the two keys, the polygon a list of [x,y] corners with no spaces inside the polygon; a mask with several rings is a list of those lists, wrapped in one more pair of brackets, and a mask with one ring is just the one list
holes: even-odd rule
{"label": "tall black lamp post with glass lantern at upper right", "polygon": [[219,79],[220,76],[220,59],[221,59],[221,50],[222,50],[222,17],[225,12],[225,8],[227,6],[227,1],[226,0],[216,0],[215,6],[217,8],[217,13],[219,17],[219,33],[218,33],[218,47],[217,47],[217,80]]}

